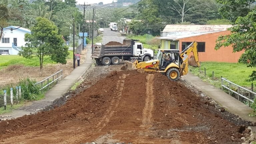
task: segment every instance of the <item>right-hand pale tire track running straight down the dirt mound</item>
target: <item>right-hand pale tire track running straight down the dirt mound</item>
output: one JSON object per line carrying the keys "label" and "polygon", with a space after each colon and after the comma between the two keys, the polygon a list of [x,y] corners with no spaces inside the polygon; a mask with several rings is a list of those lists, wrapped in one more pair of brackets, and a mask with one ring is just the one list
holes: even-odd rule
{"label": "right-hand pale tire track running straight down the dirt mound", "polygon": [[146,77],[146,101],[143,109],[143,119],[142,125],[143,128],[150,128],[152,126],[152,111],[154,108],[154,74],[148,74]]}

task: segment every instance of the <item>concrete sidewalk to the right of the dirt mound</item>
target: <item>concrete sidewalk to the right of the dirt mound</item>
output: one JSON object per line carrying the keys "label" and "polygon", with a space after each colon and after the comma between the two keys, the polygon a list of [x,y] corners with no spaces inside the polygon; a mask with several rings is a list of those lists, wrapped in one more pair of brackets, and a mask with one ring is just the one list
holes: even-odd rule
{"label": "concrete sidewalk to the right of the dirt mound", "polygon": [[238,115],[242,118],[242,120],[256,122],[255,117],[247,116],[248,113],[253,112],[252,108],[228,95],[221,89],[212,86],[208,82],[203,82],[199,77],[191,73],[182,76],[182,79],[186,80],[187,82],[191,83],[191,85],[201,90],[203,93],[217,102],[220,106],[225,108],[228,112]]}

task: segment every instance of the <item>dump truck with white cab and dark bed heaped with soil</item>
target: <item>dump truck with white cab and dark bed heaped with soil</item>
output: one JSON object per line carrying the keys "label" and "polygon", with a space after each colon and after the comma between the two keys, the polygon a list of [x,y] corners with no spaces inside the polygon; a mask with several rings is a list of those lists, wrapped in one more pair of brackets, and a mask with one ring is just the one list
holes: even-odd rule
{"label": "dump truck with white cab and dark bed heaped with soil", "polygon": [[138,62],[154,59],[154,51],[144,48],[142,43],[136,41],[139,40],[124,39],[123,44],[118,42],[109,42],[105,45],[96,43],[91,57],[97,65],[117,65],[120,64],[120,59]]}

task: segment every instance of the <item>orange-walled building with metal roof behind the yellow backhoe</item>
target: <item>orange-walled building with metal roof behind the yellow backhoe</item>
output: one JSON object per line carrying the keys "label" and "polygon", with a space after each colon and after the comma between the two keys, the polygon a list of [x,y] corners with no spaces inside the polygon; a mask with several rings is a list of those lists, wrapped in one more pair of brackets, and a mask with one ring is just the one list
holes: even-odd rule
{"label": "orange-walled building with metal roof behind the yellow backhoe", "polygon": [[220,35],[230,34],[232,25],[166,25],[161,32],[161,49],[184,50],[197,41],[199,61],[237,62],[244,51],[233,53],[231,46],[215,50]]}

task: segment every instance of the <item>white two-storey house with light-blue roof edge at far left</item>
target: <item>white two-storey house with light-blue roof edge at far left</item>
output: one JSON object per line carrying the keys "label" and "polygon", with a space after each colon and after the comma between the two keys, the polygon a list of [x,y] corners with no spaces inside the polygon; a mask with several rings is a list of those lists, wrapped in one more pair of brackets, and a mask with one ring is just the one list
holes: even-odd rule
{"label": "white two-storey house with light-blue roof edge at far left", "polygon": [[21,46],[25,46],[24,37],[26,33],[31,33],[26,28],[18,28],[17,26],[9,26],[4,28],[4,32],[0,42],[0,53],[9,52],[11,55],[17,55],[21,50]]}

